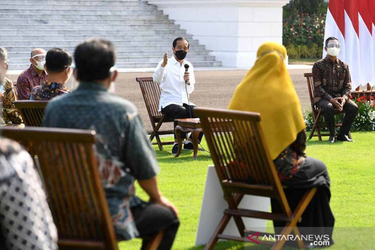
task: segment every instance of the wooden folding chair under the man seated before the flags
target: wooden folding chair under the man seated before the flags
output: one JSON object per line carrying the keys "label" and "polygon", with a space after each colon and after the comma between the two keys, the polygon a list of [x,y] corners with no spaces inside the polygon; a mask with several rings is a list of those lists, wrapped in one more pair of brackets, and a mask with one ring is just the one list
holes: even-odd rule
{"label": "wooden folding chair under the man seated before the flags", "polygon": [[[307,80],[307,86],[309,90],[309,96],[310,96],[310,104],[311,104],[311,111],[312,111],[312,117],[314,118],[314,124],[312,125],[311,132],[309,139],[311,139],[313,136],[318,136],[319,141],[322,140],[322,136],[330,136],[330,133],[321,133],[320,129],[327,127],[326,123],[320,123],[320,117],[323,115],[322,109],[317,108],[314,103],[314,82],[312,81],[312,73],[304,73],[303,74],[306,77]],[[344,112],[339,111],[335,108],[335,115],[342,114],[345,115]],[[342,123],[335,123],[335,127],[341,127]],[[315,130],[317,130],[317,135],[315,135]],[[351,138],[351,134],[349,132],[348,137]]]}

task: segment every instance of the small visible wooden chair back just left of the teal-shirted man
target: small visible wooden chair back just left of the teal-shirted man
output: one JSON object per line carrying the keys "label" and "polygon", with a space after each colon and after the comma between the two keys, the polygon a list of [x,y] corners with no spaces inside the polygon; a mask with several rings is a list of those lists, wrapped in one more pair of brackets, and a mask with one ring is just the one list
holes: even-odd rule
{"label": "small visible wooden chair back just left of the teal-shirted man", "polygon": [[48,101],[17,100],[14,106],[21,113],[25,126],[41,127],[44,109]]}

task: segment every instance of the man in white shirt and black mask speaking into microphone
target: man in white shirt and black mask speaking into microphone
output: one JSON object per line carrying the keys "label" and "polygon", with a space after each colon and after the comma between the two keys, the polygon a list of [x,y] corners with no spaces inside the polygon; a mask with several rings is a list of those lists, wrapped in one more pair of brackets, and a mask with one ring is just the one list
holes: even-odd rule
{"label": "man in white shirt and black mask speaking into microphone", "polygon": [[[159,102],[159,111],[166,117],[173,119],[195,118],[193,108],[196,106],[189,101],[189,94],[194,90],[195,77],[193,65],[184,60],[189,52],[189,42],[184,37],[177,37],[173,41],[173,57],[168,59],[168,52],[165,52],[164,58],[157,65],[153,75],[153,80],[160,83],[162,93]],[[185,67],[188,67],[185,72]],[[174,123],[174,127],[177,123]],[[199,135],[201,141],[203,133]],[[185,138],[184,133],[181,137]],[[193,149],[191,136],[186,140],[184,149]],[[172,154],[177,154],[177,138],[174,135],[174,145]]]}

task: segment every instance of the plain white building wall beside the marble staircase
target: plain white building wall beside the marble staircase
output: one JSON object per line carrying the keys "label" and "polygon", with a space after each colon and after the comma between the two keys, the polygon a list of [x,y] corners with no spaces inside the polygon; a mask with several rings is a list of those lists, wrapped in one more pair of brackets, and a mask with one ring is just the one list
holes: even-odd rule
{"label": "plain white building wall beside the marble staircase", "polygon": [[288,0],[148,0],[213,51],[224,67],[250,68],[258,47],[282,43],[282,6]]}

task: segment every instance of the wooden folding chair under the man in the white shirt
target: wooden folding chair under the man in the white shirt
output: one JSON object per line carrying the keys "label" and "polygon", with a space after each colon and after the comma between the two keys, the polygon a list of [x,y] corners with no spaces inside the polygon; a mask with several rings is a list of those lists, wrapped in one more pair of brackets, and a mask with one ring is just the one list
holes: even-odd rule
{"label": "wooden folding chair under the man in the white shirt", "polygon": [[163,150],[163,145],[171,145],[174,141],[161,142],[159,135],[174,135],[174,130],[159,130],[163,123],[173,122],[173,119],[165,117],[159,110],[159,101],[161,89],[160,85],[155,83],[152,77],[137,77],[135,78],[141,87],[144,103],[147,108],[148,117],[150,118],[153,131],[150,135],[150,141],[156,138],[153,145],[158,145],[159,150]]}

